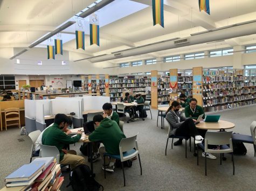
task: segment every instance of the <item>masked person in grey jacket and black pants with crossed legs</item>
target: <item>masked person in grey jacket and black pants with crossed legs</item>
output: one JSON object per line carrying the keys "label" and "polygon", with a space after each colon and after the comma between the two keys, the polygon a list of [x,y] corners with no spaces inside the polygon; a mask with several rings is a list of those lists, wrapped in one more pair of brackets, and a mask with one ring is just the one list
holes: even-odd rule
{"label": "masked person in grey jacket and black pants with crossed legs", "polygon": [[[199,131],[196,128],[196,120],[183,117],[178,112],[180,108],[181,105],[179,104],[179,102],[173,101],[166,112],[165,119],[169,122],[171,126],[170,134],[177,136],[185,136],[187,139],[189,139],[191,136],[195,136],[196,141],[203,141],[204,138],[200,136]],[[176,145],[182,144],[182,139],[179,139],[177,142],[178,144]],[[202,155],[204,156],[205,153],[203,153]],[[216,159],[216,157],[211,155],[211,153],[207,153],[206,157],[210,159]]]}

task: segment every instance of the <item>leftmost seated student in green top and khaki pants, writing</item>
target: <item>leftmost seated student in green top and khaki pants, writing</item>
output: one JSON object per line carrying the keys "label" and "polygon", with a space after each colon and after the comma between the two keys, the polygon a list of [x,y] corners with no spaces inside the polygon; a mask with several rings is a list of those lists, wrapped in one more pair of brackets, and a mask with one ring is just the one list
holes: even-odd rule
{"label": "leftmost seated student in green top and khaki pants, writing", "polygon": [[71,170],[81,164],[86,164],[86,160],[82,156],[78,156],[73,150],[64,150],[64,145],[73,144],[80,140],[81,131],[77,132],[77,136],[70,137],[62,130],[68,121],[65,114],[57,114],[54,123],[43,133],[42,143],[44,145],[56,146],[60,152],[60,164],[70,165]]}

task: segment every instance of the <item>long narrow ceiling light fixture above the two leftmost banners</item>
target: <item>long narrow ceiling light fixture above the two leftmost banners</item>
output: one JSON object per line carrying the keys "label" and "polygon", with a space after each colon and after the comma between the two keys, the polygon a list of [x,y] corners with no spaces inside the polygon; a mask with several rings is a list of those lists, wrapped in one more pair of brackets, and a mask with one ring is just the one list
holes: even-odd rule
{"label": "long narrow ceiling light fixture above the two leftmost banners", "polygon": [[67,23],[65,23],[64,25],[60,26],[59,28],[57,28],[56,30],[52,31],[51,33],[45,35],[43,38],[37,40],[36,42],[32,43],[28,48],[25,48],[24,50],[22,50],[21,52],[19,52],[18,54],[10,57],[10,60],[12,60],[13,58],[25,53],[27,50],[29,50],[30,48],[33,48],[37,45],[39,45],[41,42],[44,42],[45,40],[51,38],[53,35],[56,35],[57,33],[65,30],[67,27],[71,26],[75,24],[75,21],[68,21]]}

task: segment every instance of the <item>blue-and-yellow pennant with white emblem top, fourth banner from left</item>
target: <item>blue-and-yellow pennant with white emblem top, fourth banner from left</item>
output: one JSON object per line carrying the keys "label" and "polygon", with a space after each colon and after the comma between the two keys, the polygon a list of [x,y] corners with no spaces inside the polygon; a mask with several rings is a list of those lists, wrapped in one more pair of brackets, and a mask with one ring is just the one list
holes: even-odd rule
{"label": "blue-and-yellow pennant with white emblem top, fourth banner from left", "polygon": [[95,13],[90,16],[90,45],[93,44],[100,46],[99,17]]}

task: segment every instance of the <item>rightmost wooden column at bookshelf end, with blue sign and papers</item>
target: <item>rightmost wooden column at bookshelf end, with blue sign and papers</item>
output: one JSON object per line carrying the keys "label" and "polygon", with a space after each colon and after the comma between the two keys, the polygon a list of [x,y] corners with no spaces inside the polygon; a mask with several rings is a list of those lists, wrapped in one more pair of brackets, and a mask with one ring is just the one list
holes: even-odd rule
{"label": "rightmost wooden column at bookshelf end, with blue sign and papers", "polygon": [[203,107],[203,67],[193,68],[193,98],[197,99],[197,105]]}

